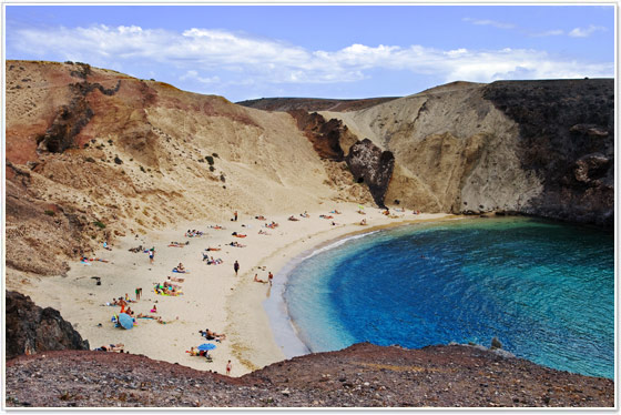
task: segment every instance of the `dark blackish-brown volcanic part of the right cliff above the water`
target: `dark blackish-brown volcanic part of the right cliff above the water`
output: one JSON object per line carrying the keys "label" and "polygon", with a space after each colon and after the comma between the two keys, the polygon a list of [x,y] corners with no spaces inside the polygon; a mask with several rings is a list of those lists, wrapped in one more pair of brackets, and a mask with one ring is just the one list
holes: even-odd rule
{"label": "dark blackish-brown volcanic part of the right cliff above the water", "polygon": [[614,80],[499,81],[483,97],[520,126],[522,169],[543,192],[525,213],[614,223]]}

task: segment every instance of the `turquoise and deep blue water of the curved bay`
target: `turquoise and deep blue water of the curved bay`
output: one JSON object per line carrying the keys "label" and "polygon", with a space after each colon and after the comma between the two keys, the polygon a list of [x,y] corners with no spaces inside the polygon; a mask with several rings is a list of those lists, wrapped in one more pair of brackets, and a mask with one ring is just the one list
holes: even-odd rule
{"label": "turquoise and deep blue water of the curved bay", "polygon": [[421,224],[324,247],[284,293],[312,352],[357,342],[503,348],[614,375],[614,235],[525,217]]}

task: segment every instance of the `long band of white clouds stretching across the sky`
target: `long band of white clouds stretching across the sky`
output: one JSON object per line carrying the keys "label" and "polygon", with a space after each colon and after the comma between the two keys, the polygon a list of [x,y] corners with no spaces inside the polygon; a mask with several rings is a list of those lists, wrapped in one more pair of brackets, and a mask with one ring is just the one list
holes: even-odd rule
{"label": "long band of white clouds stretching across the sky", "polygon": [[[506,23],[505,23],[506,24]],[[593,30],[598,30],[597,28]],[[551,34],[550,34],[551,36]],[[612,77],[613,63],[568,61],[529,49],[438,50],[423,45],[352,44],[336,51],[307,50],[269,39],[192,28],[182,33],[140,27],[93,26],[55,30],[23,29],[11,36],[13,50],[50,59],[110,68],[163,64],[182,81],[204,84],[338,83],[370,77],[370,70],[409,71],[445,81]],[[116,69],[116,68],[113,68]],[[150,70],[152,68],[149,68]]]}

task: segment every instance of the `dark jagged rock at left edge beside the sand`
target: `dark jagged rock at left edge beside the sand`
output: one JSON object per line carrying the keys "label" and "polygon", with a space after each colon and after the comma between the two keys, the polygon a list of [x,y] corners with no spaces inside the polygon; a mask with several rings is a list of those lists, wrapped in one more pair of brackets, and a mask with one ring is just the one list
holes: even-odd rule
{"label": "dark jagged rock at left edge beside the sand", "polygon": [[57,310],[41,308],[18,292],[7,291],[4,317],[8,360],[47,351],[89,350],[89,342]]}

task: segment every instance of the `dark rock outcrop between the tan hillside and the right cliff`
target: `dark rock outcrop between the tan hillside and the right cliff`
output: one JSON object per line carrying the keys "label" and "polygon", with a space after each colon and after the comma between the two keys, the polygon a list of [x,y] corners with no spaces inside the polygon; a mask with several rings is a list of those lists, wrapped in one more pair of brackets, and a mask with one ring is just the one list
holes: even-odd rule
{"label": "dark rock outcrop between the tan hillside and the right cliff", "polygon": [[395,168],[395,156],[389,151],[381,151],[369,139],[356,142],[345,159],[357,182],[368,185],[375,203],[385,208],[384,196]]}

